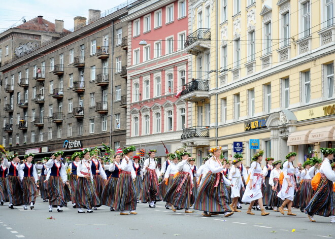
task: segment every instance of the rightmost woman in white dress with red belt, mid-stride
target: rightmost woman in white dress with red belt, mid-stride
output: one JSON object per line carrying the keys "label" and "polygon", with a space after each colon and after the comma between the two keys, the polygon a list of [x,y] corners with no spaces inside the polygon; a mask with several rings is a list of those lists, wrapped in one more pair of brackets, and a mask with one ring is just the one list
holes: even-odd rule
{"label": "rightmost woman in white dress with red belt, mid-stride", "polygon": [[283,174],[284,174],[283,185],[282,189],[277,194],[277,196],[284,201],[282,206],[278,208],[278,211],[284,215],[284,207],[287,206],[288,216],[296,216],[296,214],[292,213],[294,190],[297,190],[294,178],[295,168],[292,163],[295,160],[295,156],[296,156],[295,152],[290,152],[288,155],[286,155],[287,161],[285,161],[283,164]]}

